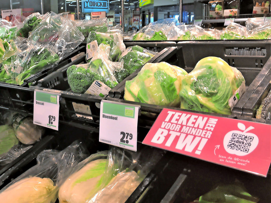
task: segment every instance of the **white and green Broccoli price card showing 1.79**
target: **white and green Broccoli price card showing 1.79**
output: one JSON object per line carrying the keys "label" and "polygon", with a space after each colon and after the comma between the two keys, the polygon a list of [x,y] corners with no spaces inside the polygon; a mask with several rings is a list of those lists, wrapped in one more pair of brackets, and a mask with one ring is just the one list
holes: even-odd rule
{"label": "white and green Broccoli price card showing 1.79", "polygon": [[33,123],[58,130],[59,93],[35,90]]}

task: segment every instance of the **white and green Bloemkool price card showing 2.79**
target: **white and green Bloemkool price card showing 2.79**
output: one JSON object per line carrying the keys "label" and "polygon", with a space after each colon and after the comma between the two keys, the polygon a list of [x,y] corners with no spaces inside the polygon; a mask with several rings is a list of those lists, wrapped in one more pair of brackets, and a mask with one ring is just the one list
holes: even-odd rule
{"label": "white and green Bloemkool price card showing 2.79", "polygon": [[140,106],[101,101],[99,141],[137,151],[137,121]]}

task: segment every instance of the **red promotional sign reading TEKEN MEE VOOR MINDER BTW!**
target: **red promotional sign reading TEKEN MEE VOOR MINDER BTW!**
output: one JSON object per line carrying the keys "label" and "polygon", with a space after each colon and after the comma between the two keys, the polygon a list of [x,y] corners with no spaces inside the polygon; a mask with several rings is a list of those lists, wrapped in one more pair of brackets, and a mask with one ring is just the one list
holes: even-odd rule
{"label": "red promotional sign reading TEKEN MEE VOOR MINDER BTW!", "polygon": [[143,144],[267,175],[271,125],[163,109]]}

